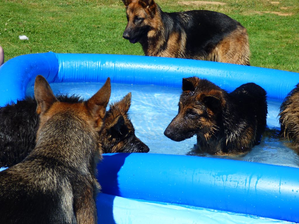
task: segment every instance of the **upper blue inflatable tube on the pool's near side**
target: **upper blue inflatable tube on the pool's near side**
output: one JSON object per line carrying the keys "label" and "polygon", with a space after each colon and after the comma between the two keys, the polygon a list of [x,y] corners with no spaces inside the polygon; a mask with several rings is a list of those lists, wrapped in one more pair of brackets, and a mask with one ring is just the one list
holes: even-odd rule
{"label": "upper blue inflatable tube on the pool's near side", "polygon": [[106,194],[299,222],[299,169],[229,159],[106,154]]}

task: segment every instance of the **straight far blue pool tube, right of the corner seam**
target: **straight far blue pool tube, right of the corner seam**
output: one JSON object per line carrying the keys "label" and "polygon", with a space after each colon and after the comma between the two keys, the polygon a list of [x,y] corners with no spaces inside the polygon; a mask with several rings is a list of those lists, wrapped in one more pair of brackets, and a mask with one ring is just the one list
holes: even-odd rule
{"label": "straight far blue pool tube, right of the corner seam", "polygon": [[282,100],[299,81],[299,74],[282,70],[191,59],[133,55],[56,54],[59,72],[55,82],[112,82],[181,87],[182,78],[208,78],[228,91],[255,82],[268,97]]}

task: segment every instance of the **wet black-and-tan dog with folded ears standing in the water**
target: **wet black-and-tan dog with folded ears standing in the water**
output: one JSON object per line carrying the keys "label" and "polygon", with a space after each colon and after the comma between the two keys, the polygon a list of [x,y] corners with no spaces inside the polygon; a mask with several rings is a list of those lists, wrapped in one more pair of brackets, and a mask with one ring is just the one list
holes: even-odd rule
{"label": "wet black-and-tan dog with folded ears standing in the water", "polygon": [[183,78],[179,112],[164,135],[180,142],[197,136],[210,154],[245,152],[260,143],[266,128],[266,91],[254,83],[231,93],[207,79]]}

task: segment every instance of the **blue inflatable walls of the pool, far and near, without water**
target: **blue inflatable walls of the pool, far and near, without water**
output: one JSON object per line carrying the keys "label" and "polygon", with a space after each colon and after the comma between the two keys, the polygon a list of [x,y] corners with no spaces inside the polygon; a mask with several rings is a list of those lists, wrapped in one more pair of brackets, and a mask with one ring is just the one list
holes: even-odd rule
{"label": "blue inflatable walls of the pool, far and near, without water", "polygon": [[[199,76],[228,91],[255,82],[278,100],[299,82],[298,73],[242,65],[49,52],[19,56],[0,67],[0,105],[22,99],[38,74],[49,82],[103,82],[110,77],[116,83],[170,87],[180,87],[183,77]],[[106,154],[98,170],[103,192],[97,200],[99,223],[299,222],[298,168],[179,155]]]}

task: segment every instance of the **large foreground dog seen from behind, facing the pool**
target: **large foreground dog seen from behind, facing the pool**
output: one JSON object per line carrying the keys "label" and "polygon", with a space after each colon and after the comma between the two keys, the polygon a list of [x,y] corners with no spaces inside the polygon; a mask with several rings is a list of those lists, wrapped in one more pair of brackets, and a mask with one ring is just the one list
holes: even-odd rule
{"label": "large foreground dog seen from behind, facing the pool", "polygon": [[36,146],[0,172],[0,223],[97,223],[94,172],[110,93],[108,78],[86,102],[59,102],[36,77]]}

